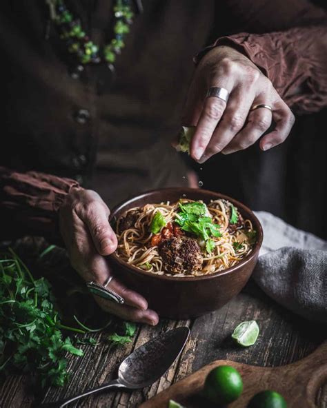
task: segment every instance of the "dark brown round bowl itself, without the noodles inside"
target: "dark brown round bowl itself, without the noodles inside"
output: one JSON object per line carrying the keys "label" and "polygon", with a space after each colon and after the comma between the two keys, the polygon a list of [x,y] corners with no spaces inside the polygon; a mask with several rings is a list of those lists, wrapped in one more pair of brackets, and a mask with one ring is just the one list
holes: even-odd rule
{"label": "dark brown round bowl itself, without the noodles inside", "polygon": [[248,207],[223,194],[192,188],[172,187],[140,194],[117,205],[110,215],[110,223],[114,225],[115,221],[132,207],[166,201],[175,203],[184,196],[191,200],[202,200],[204,203],[219,198],[230,201],[244,218],[252,222],[257,231],[257,243],[252,252],[233,267],[206,276],[185,278],[151,274],[128,265],[116,254],[109,256],[115,275],[130,289],[144,296],[151,309],[160,316],[179,319],[194,318],[217,310],[239,294],[257,263],[263,238],[259,220]]}

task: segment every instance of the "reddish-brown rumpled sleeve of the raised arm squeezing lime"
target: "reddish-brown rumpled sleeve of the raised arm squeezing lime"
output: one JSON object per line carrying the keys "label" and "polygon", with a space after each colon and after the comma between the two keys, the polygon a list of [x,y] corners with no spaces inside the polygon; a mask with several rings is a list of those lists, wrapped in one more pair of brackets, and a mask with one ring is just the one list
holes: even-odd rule
{"label": "reddish-brown rumpled sleeve of the raised arm squeezing lime", "polygon": [[245,54],[295,112],[317,112],[327,105],[327,24],[221,37],[195,61],[217,45],[229,45]]}

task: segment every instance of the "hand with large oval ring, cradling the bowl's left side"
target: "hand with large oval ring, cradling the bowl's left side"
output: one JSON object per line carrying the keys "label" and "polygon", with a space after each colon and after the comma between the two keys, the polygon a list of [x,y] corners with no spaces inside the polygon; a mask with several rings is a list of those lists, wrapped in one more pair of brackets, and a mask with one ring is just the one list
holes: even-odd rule
{"label": "hand with large oval ring, cradling the bowl's left side", "polygon": [[[99,194],[73,188],[59,209],[59,227],[72,267],[85,281],[103,285],[112,274],[105,256],[117,248],[117,237],[108,222],[110,211]],[[123,305],[94,296],[102,309],[126,320],[157,325],[158,315],[148,309],[141,295],[114,276],[109,288],[125,299]]]}

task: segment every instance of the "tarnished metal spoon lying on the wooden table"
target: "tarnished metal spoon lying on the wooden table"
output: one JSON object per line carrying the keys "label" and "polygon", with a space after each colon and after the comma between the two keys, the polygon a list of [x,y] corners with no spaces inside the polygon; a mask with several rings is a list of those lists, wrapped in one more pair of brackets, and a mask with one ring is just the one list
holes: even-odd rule
{"label": "tarnished metal spoon lying on the wooden table", "polygon": [[110,383],[103,384],[100,387],[89,389],[82,394],[41,405],[42,408],[61,408],[66,407],[70,402],[79,400],[90,394],[99,391],[105,391],[112,388],[137,389],[148,387],[163,376],[170,365],[184,348],[190,330],[188,327],[177,327],[169,332],[141,345],[123,360],[118,370],[118,378],[111,380]]}

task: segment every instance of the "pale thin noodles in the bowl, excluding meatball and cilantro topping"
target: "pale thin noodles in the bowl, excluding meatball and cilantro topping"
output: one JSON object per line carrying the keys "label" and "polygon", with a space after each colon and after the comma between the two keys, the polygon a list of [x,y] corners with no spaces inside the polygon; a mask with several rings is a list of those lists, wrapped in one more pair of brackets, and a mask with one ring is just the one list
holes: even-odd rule
{"label": "pale thin noodles in the bowl, excluding meatball and cilantro topping", "polygon": [[[229,231],[228,205],[231,204],[226,200],[215,200],[211,201],[207,207],[212,217],[212,222],[220,226],[219,232],[221,236],[212,236],[215,247],[210,254],[206,252],[206,249],[201,249],[203,256],[201,270],[176,274],[167,272],[164,269],[164,263],[159,254],[158,246],[152,246],[151,241],[155,234],[150,232],[150,225],[156,212],[161,212],[166,223],[174,223],[174,220],[178,217],[179,203],[194,203],[194,201],[183,198],[173,204],[169,202],[146,204],[143,207],[135,207],[128,210],[124,217],[119,218],[116,225],[118,238],[117,256],[126,263],[152,274],[182,277],[202,276],[224,271],[224,269],[236,265],[250,254],[254,245],[253,238],[255,237],[255,230],[253,230],[251,221],[248,219],[243,221],[242,219],[242,223],[237,226],[238,228],[235,227],[235,231]],[[119,224],[129,213],[137,215],[136,221],[131,227],[119,232]],[[186,233],[186,235],[192,236],[189,233]],[[197,237],[194,236],[194,238],[196,239]],[[197,238],[197,241],[199,242],[199,238]],[[199,244],[201,245],[200,242]],[[176,262],[178,261],[177,258]]]}

